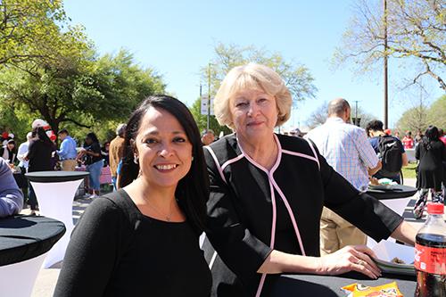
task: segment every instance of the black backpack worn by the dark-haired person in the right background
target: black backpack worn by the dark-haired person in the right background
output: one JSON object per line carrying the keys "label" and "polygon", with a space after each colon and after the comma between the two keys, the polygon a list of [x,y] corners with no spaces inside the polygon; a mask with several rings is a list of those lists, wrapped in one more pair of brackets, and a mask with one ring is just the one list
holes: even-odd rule
{"label": "black backpack worn by the dark-haired person in the right background", "polygon": [[397,176],[402,167],[402,144],[392,136],[379,136],[378,157],[383,163],[383,168],[379,170],[383,177]]}

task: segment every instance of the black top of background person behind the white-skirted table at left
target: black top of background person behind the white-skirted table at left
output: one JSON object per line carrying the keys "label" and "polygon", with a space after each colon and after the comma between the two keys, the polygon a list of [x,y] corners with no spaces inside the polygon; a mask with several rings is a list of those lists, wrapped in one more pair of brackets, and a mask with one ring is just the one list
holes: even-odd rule
{"label": "black top of background person behind the white-skirted table at left", "polygon": [[36,139],[31,141],[28,149],[29,166],[28,172],[53,170],[51,154],[54,144]]}

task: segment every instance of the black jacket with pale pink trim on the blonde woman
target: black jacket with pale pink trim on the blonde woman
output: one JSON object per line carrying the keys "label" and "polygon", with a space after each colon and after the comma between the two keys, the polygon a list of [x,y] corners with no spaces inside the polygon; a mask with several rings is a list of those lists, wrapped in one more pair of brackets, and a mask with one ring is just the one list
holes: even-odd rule
{"label": "black jacket with pale pink trim on the blonde woman", "polygon": [[[235,135],[204,149],[211,178],[206,231],[211,244],[206,241],[203,249],[211,263],[213,296],[254,296],[257,271],[272,250],[319,256],[323,206],[376,241],[401,224],[399,215],[336,173],[316,145],[293,136],[275,139],[277,162],[269,171],[242,152]],[[262,296],[277,277],[266,276]]]}

